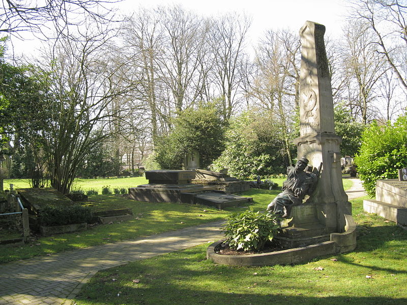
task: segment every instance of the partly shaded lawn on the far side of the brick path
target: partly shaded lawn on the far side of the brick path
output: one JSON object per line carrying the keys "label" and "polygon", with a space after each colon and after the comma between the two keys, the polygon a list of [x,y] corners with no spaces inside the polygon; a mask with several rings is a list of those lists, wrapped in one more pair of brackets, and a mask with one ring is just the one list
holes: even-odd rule
{"label": "partly shaded lawn on the far side of the brick path", "polygon": [[[138,179],[137,185],[145,183],[142,182],[141,178],[109,180],[120,181],[127,179]],[[92,182],[93,180],[105,179],[91,179]],[[282,186],[284,181],[284,179],[273,180],[279,186]],[[103,182],[100,185],[103,186]],[[249,207],[254,210],[265,210],[279,192],[280,188],[272,191],[250,189],[240,195],[253,197],[251,204],[229,207],[225,208],[225,210],[182,203],[146,203],[114,195],[89,196],[89,202],[86,205],[91,206],[95,211],[131,208],[135,218],[123,223],[97,225],[82,232],[59,234],[51,237],[37,236],[32,238],[31,242],[26,245],[0,245],[0,263],[177,230],[187,226],[225,219],[231,212],[243,211]],[[206,211],[204,212],[204,210]],[[2,231],[0,231],[0,234],[2,234]]]}

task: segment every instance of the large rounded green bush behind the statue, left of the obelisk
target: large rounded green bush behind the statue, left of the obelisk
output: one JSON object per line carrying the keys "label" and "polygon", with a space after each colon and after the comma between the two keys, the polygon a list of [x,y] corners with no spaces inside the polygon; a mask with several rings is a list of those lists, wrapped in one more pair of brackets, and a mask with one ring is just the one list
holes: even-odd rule
{"label": "large rounded green bush behind the statue, left of the obelisk", "polygon": [[[291,135],[293,136],[293,135]],[[289,140],[291,156],[296,147]],[[255,179],[285,173],[290,165],[281,126],[274,116],[261,111],[247,111],[231,120],[226,131],[225,149],[214,161],[213,169],[228,169],[239,179]]]}

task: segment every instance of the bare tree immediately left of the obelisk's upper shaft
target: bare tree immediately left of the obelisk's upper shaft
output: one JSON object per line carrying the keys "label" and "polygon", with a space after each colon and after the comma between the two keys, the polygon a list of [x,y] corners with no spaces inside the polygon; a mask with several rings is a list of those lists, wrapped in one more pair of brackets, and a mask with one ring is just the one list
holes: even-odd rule
{"label": "bare tree immediately left of the obelisk's upper shaft", "polygon": [[289,164],[290,114],[296,111],[299,100],[299,50],[300,42],[292,33],[267,31],[256,48],[257,75],[251,88],[252,96],[278,120]]}

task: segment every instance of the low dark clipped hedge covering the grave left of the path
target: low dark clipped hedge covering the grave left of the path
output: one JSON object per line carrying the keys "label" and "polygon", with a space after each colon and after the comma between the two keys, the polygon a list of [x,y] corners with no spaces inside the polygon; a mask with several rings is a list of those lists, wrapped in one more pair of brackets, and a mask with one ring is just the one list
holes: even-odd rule
{"label": "low dark clipped hedge covering the grave left of the path", "polygon": [[90,207],[79,204],[71,206],[47,205],[40,210],[40,223],[43,226],[61,226],[87,223],[92,219]]}

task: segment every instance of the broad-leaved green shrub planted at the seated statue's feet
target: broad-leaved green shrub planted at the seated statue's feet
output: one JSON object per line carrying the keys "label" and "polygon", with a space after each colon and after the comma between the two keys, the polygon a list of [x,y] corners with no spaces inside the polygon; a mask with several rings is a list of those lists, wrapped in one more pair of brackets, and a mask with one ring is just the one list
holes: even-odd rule
{"label": "broad-leaved green shrub planted at the seated statue's feet", "polygon": [[278,233],[280,218],[250,209],[230,215],[222,229],[231,249],[259,251]]}

